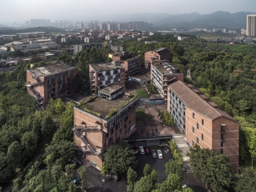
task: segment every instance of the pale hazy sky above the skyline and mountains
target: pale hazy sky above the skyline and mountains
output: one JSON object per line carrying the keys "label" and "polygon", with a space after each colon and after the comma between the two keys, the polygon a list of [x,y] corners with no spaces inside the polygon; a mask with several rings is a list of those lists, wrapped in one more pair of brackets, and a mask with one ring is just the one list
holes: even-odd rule
{"label": "pale hazy sky above the skyline and mountains", "polygon": [[256,0],[0,0],[0,24],[24,24],[30,18],[89,21],[113,13],[256,12],[255,7]]}

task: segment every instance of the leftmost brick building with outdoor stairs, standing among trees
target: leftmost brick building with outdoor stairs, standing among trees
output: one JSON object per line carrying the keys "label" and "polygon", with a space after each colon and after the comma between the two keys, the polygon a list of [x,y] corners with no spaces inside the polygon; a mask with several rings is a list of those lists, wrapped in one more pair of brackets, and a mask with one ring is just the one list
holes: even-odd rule
{"label": "leftmost brick building with outdoor stairs, standing among trees", "polygon": [[49,99],[63,98],[78,92],[78,68],[63,62],[26,71],[28,94],[36,98],[36,107],[44,110]]}

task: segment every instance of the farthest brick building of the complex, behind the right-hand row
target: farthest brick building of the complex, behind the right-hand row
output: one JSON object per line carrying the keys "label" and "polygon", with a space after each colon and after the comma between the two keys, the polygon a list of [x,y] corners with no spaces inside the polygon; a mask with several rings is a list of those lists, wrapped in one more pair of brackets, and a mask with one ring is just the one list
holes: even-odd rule
{"label": "farthest brick building of the complex, behind the right-hand row", "polygon": [[145,68],[150,68],[152,60],[168,60],[170,62],[170,51],[166,47],[160,47],[145,53]]}

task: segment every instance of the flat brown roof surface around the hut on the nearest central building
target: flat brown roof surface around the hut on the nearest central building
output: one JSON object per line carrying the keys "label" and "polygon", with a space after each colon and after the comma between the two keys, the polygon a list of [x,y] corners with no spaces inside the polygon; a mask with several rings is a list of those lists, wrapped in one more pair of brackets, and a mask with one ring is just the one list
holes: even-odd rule
{"label": "flat brown roof surface around the hut on the nearest central building", "polygon": [[127,103],[127,101],[130,103],[130,99],[132,99],[132,97],[127,97],[126,95],[119,95],[111,101],[97,97],[93,101],[87,103],[86,107],[94,112],[100,113],[102,118],[105,118],[107,114],[109,114],[111,107],[120,110],[124,107],[124,104]]}

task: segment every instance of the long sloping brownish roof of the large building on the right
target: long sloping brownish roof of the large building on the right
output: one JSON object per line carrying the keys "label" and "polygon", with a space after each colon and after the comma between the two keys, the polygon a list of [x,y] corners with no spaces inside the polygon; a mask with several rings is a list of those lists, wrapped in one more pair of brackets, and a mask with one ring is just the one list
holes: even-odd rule
{"label": "long sloping brownish roof of the large building on the right", "polygon": [[[234,118],[224,112],[224,110],[215,108],[218,107],[216,103],[213,101],[207,102],[201,96],[197,95],[198,91],[193,91],[193,87],[191,87],[190,84],[188,84],[188,87],[185,83],[178,81],[168,86],[189,108],[207,116],[211,120],[215,120],[220,117],[234,120]],[[201,92],[199,94],[201,95]]]}

